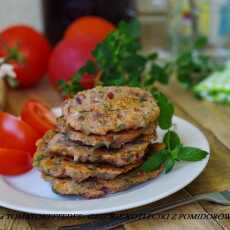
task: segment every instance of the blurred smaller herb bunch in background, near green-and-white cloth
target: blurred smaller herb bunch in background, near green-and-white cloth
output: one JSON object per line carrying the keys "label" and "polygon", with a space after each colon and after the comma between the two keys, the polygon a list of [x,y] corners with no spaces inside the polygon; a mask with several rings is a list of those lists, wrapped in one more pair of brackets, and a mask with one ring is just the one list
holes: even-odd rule
{"label": "blurred smaller herb bunch in background, near green-and-white cloth", "polygon": [[171,72],[187,89],[192,89],[210,73],[221,68],[210,56],[202,52],[207,42],[206,37],[198,37],[192,47],[181,51],[170,63]]}

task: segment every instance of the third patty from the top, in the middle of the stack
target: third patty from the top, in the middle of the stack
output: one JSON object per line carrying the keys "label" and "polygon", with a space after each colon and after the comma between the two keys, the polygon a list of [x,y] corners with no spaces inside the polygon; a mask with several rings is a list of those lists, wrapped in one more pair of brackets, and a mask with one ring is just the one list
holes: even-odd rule
{"label": "third patty from the top, in the middle of the stack", "polygon": [[[37,146],[39,155],[62,155],[75,162],[109,163],[118,167],[142,159],[152,136],[142,136],[133,143],[125,144],[121,149],[92,148],[70,141],[63,133],[49,131]],[[34,158],[35,160],[35,158]]]}

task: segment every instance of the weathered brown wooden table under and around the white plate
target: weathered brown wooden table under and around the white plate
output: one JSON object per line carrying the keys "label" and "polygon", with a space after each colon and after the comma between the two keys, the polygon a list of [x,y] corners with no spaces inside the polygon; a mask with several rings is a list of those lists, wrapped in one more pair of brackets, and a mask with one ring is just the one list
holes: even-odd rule
{"label": "weathered brown wooden table under and around the white plate", "polygon": [[[211,145],[211,158],[204,172],[185,189],[163,199],[160,202],[176,200],[194,194],[230,189],[230,106],[216,105],[195,99],[189,92],[172,82],[168,87],[161,87],[176,105],[176,114],[198,126],[207,136]],[[9,90],[7,110],[19,114],[22,103],[29,97],[46,101],[50,106],[61,102],[59,95],[48,86],[46,81],[29,90]],[[44,204],[45,205],[45,204]],[[155,218],[127,224],[127,230],[150,229],[230,229],[228,219],[196,219],[178,218],[180,214],[228,214],[230,208],[208,202],[195,203],[177,208],[170,212],[170,219]],[[9,217],[10,214],[10,218]],[[13,215],[11,215],[13,214]],[[27,218],[17,217],[19,212],[0,208],[0,230],[57,229],[63,225],[71,225],[88,221],[87,218],[45,218],[31,215]],[[173,215],[176,214],[176,215]],[[173,218],[176,217],[176,219]],[[21,217],[21,218],[20,218]]]}

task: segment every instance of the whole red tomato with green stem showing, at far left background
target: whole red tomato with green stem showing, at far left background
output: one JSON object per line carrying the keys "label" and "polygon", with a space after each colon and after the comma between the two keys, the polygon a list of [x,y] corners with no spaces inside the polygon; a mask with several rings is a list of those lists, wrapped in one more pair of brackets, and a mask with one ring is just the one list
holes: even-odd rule
{"label": "whole red tomato with green stem showing, at far left background", "polygon": [[0,34],[0,57],[11,57],[19,86],[35,85],[46,73],[50,45],[29,26],[16,25]]}

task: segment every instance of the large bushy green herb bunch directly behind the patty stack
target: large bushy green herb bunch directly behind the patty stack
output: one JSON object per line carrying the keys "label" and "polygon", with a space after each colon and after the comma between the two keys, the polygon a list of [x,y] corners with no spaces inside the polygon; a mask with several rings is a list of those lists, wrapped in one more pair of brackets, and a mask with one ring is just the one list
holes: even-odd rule
{"label": "large bushy green herb bunch directly behind the patty stack", "polygon": [[100,74],[100,84],[152,87],[155,81],[168,83],[165,66],[158,63],[157,53],[147,56],[140,54],[140,24],[137,20],[130,23],[120,22],[116,31],[92,52],[95,61],[88,61],[73,76],[69,83],[60,82],[65,94],[73,95],[82,90],[81,77],[88,74]]}

